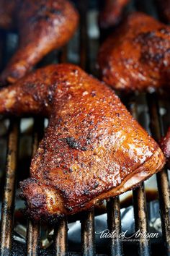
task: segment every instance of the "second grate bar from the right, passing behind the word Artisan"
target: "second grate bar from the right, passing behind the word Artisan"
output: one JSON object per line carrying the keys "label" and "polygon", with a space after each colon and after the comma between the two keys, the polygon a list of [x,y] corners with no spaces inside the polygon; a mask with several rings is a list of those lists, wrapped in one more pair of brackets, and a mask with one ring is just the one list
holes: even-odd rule
{"label": "second grate bar from the right, passing behind the word Artisan", "polygon": [[[130,113],[136,120],[138,120],[134,96],[135,95],[132,96],[132,101],[130,101]],[[133,189],[133,209],[135,217],[135,231],[139,230],[141,233],[145,234],[148,232],[148,218],[144,183],[142,183],[140,187]],[[138,253],[141,256],[150,255],[150,243],[148,238],[139,236]]]}

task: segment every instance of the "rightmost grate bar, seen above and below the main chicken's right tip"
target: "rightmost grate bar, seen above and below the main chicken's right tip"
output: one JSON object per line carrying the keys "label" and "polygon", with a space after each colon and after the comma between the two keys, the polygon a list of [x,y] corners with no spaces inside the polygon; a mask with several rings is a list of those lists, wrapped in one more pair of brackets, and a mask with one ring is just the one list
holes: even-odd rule
{"label": "rightmost grate bar, seen above and below the main chicken's right tip", "polygon": [[[159,114],[158,95],[147,95],[148,110],[151,118],[151,132],[156,141],[161,139],[161,116]],[[161,210],[161,225],[164,237],[166,255],[170,254],[170,194],[167,170],[164,168],[156,174],[158,184],[158,197]]]}

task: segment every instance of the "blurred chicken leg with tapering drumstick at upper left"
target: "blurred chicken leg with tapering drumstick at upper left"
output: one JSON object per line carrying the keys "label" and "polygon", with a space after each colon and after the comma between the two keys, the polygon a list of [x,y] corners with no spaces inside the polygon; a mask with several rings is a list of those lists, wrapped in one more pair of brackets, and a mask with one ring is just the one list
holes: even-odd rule
{"label": "blurred chicken leg with tapering drumstick at upper left", "polygon": [[76,9],[67,0],[1,0],[0,27],[16,28],[19,46],[0,83],[15,82],[43,56],[63,46],[75,32],[78,20]]}

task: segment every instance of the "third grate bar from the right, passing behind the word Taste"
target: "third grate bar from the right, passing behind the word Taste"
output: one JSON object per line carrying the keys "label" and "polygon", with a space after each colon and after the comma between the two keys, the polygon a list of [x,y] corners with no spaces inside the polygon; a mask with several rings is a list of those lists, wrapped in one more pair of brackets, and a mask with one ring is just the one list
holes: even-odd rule
{"label": "third grate bar from the right, passing behind the word Taste", "polygon": [[111,234],[116,234],[116,237],[109,239],[109,255],[122,255],[122,242],[118,238],[121,232],[119,197],[107,201],[107,226]]}

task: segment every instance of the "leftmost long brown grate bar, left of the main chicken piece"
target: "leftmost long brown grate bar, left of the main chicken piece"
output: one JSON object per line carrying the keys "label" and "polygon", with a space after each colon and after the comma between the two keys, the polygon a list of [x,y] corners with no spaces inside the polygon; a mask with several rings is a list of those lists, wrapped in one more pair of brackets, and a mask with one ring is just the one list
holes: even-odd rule
{"label": "leftmost long brown grate bar, left of the main chicken piece", "polygon": [[[7,256],[11,254],[12,234],[14,221],[14,195],[17,168],[17,145],[19,137],[19,121],[10,121],[9,142],[6,159],[6,177],[4,184],[4,199],[1,208],[1,237],[0,254]],[[3,234],[3,235],[2,235]]]}

